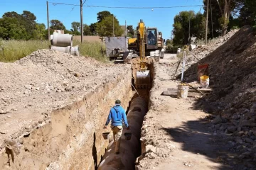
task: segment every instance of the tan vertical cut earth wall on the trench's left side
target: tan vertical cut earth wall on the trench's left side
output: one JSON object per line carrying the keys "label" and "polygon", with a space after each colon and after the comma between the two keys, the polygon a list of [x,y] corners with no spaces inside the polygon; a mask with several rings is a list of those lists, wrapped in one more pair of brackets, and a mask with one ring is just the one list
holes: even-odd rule
{"label": "tan vertical cut earth wall on the trench's left side", "polygon": [[124,66],[123,72],[82,100],[53,111],[44,125],[19,139],[21,153],[11,166],[7,154],[0,155],[0,169],[97,169],[110,142],[103,140],[103,125],[117,98],[127,109],[131,79],[131,67]]}

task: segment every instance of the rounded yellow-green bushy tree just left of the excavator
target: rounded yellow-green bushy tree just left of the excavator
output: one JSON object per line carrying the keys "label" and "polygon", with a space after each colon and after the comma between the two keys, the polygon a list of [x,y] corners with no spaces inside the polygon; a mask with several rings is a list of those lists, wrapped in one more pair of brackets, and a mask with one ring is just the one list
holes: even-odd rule
{"label": "rounded yellow-green bushy tree just left of the excavator", "polygon": [[[107,16],[100,23],[96,23],[96,30],[100,36],[112,36],[113,34],[113,17]],[[121,36],[124,33],[117,18],[114,18],[114,35]]]}

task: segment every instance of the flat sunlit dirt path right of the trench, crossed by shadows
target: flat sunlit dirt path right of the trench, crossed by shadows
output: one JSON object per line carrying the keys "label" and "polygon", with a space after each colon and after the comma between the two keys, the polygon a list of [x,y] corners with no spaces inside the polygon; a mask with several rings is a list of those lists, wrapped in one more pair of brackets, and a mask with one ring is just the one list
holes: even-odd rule
{"label": "flat sunlit dirt path right of the trench, crossed by shadows", "polygon": [[165,55],[156,67],[152,106],[142,128],[142,141],[148,152],[137,168],[243,169],[235,160],[232,142],[210,132],[210,115],[196,109],[199,98],[161,96],[179,83],[171,80],[178,61],[175,56]]}

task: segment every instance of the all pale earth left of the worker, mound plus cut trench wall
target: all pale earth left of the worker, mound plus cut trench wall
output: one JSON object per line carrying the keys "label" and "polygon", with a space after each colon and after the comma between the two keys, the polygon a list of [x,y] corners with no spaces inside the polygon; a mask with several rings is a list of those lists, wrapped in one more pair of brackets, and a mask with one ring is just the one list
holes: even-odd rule
{"label": "all pale earth left of the worker, mound plus cut trench wall", "polygon": [[132,98],[131,66],[38,50],[0,68],[1,169],[97,169],[110,107]]}

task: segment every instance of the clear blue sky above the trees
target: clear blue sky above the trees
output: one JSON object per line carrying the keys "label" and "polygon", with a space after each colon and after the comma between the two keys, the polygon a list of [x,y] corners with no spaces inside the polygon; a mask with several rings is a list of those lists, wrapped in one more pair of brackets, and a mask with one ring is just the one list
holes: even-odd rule
{"label": "clear blue sky above the trees", "polygon": [[[80,5],[80,0],[48,0],[49,19],[62,21],[66,29],[70,30],[73,21],[80,22],[80,6],[56,5],[53,3],[76,4]],[[85,0],[82,0],[85,1]],[[53,2],[53,3],[51,3]],[[100,11],[110,11],[116,16],[119,24],[124,26],[137,26],[142,19],[146,27],[156,27],[162,32],[163,37],[171,37],[174,16],[180,11],[193,10],[196,13],[203,13],[203,0],[86,0],[83,7],[83,23],[90,25],[97,22],[97,13]],[[193,6],[186,8],[96,8],[88,6],[125,6],[125,7],[167,7],[167,6]],[[44,23],[47,28],[47,10],[44,0],[0,0],[0,16],[9,11],[31,11],[36,16],[37,23]]]}

